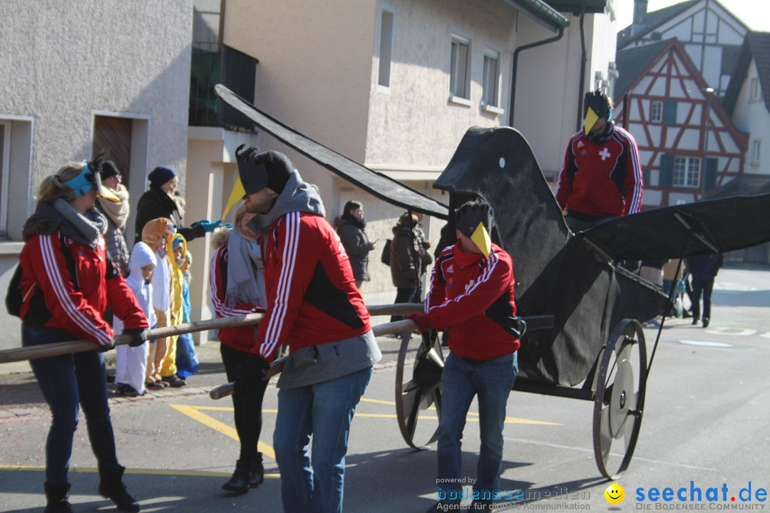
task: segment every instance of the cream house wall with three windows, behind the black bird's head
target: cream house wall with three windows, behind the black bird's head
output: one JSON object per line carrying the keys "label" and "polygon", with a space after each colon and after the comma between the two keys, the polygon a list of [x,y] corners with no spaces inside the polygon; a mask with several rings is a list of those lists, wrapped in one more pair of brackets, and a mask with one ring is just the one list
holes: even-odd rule
{"label": "cream house wall with three windows, behind the black bird's head", "polygon": [[[378,86],[378,52],[370,66],[370,116],[367,120],[366,163],[389,172],[410,168],[438,173],[454,155],[471,126],[507,125],[511,55],[517,11],[500,0],[396,0],[378,4],[393,12],[390,87]],[[534,24],[527,18],[521,22]],[[470,42],[469,105],[450,101],[452,35]],[[484,50],[499,55],[496,112],[482,105]]]}

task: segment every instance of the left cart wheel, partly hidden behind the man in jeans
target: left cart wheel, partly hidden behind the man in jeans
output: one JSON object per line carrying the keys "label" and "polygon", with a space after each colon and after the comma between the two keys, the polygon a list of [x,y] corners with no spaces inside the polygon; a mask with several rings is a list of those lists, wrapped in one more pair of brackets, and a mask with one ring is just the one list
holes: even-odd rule
{"label": "left cart wheel, partly hidden behind the man in jeans", "polygon": [[[419,345],[417,345],[419,341]],[[407,355],[414,353],[412,377],[404,378],[404,367]],[[410,355],[411,357],[411,355]],[[435,428],[429,422],[427,428],[417,430],[417,420],[420,410],[435,405],[436,415],[441,415],[441,370],[444,368],[444,355],[435,330],[423,333],[422,337],[414,339],[405,333],[398,351],[398,367],[396,368],[396,417],[403,440],[411,448],[423,450],[437,438],[438,424]],[[408,371],[407,371],[408,374]],[[426,439],[424,445],[415,443],[415,438]]]}

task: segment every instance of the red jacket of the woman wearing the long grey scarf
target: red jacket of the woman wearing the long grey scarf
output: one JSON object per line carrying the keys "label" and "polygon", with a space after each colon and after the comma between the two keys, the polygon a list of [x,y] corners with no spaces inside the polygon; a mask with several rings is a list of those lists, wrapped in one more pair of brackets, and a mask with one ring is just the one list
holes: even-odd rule
{"label": "red jacket of the woman wearing the long grey scarf", "polygon": [[[211,284],[211,302],[218,317],[237,317],[250,314],[259,305],[237,302],[232,308],[227,306],[227,245],[220,246],[211,258],[209,282]],[[219,341],[239,351],[250,352],[254,347],[254,326],[237,326],[219,330]]]}

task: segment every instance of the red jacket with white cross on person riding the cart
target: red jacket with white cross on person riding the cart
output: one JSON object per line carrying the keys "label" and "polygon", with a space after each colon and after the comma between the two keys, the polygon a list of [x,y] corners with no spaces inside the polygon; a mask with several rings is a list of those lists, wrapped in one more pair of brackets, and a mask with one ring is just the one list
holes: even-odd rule
{"label": "red jacket with white cross on person riding the cart", "polygon": [[562,210],[595,216],[635,214],[643,188],[639,149],[626,130],[614,127],[604,145],[589,141],[582,130],[570,138],[556,190]]}

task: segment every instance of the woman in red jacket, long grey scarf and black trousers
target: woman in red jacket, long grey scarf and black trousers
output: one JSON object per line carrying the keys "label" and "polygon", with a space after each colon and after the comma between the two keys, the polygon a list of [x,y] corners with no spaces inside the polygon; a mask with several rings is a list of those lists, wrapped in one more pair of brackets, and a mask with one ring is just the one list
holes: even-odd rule
{"label": "woman in red jacket, long grey scarf and black trousers", "polygon": [[[262,311],[265,305],[265,278],[258,234],[246,223],[254,214],[241,205],[237,209],[233,229],[219,228],[211,245],[216,250],[211,259],[211,302],[219,317],[246,315]],[[235,381],[236,368],[241,365],[254,347],[256,326],[222,328],[219,330],[219,352],[225,365],[228,381]],[[256,450],[262,431],[262,399],[267,380],[247,393],[236,388],[233,394],[233,414],[240,439],[240,455],[236,471],[222,488],[245,493],[259,486],[264,478],[262,453]]]}

